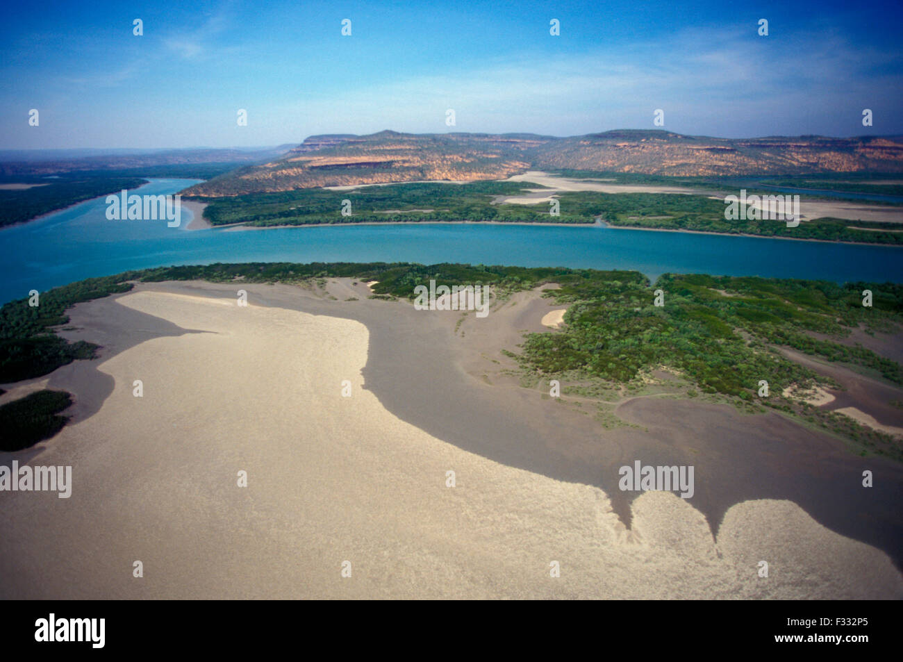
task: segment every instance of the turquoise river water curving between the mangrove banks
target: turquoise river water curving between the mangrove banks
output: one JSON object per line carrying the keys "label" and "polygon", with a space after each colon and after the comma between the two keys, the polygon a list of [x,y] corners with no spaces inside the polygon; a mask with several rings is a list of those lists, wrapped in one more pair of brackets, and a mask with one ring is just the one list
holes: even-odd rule
{"label": "turquoise river water curving between the mangrove banks", "polygon": [[[154,180],[167,194],[196,180]],[[212,262],[461,262],[903,282],[903,248],[603,227],[411,223],[186,230],[108,220],[104,198],[0,230],[0,303],[98,275]]]}

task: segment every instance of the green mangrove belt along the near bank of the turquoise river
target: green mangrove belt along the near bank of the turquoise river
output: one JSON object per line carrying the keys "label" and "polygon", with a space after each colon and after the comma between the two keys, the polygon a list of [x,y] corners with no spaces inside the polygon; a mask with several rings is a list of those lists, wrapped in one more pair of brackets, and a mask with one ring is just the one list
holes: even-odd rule
{"label": "green mangrove belt along the near bank of the turquoise river", "polygon": [[[787,359],[778,346],[879,373],[903,385],[903,368],[860,345],[820,340],[842,339],[852,329],[891,331],[903,324],[903,284],[849,283],[710,275],[662,275],[655,284],[634,271],[526,268],[485,265],[407,263],[247,263],[170,266],[94,278],[41,295],[38,308],[27,300],[0,309],[0,382],[36,377],[75,358],[90,358],[95,346],[69,344],[51,327],[67,322],[73,303],[125,292],[129,281],[206,280],[211,282],[286,283],[312,286],[328,278],[378,281],[370,298],[411,299],[414,287],[427,284],[488,284],[504,299],[519,290],[547,283],[559,289],[545,294],[569,306],[563,327],[526,335],[517,359],[522,377],[536,384],[564,378],[582,396],[612,401],[619,396],[665,393],[644,380],[664,368],[679,376],[675,384],[687,397],[716,398],[748,411],[768,406],[854,440],[873,452],[900,456],[899,444],[856,424],[783,397],[791,385],[836,386]],[[861,305],[870,289],[873,306]],[[656,290],[664,305],[656,306]],[[759,397],[759,380],[770,395]],[[564,383],[564,382],[563,382]]]}

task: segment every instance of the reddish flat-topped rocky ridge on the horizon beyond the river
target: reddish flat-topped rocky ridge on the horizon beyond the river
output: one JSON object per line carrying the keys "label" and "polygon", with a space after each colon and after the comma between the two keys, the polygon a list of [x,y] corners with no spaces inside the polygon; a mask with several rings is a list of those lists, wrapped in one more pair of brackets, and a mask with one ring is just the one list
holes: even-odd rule
{"label": "reddish flat-topped rocky ridge on the horizon beyond the river", "polygon": [[312,135],[270,163],[185,191],[221,197],[319,186],[498,180],[529,168],[675,176],[901,172],[903,138],[818,135],[710,138],[619,130],[558,138],[535,134]]}

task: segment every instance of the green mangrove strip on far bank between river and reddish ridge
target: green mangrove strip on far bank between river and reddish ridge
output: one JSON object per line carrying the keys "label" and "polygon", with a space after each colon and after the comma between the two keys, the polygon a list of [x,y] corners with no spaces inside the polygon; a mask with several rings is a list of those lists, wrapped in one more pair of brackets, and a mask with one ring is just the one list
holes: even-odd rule
{"label": "green mangrove strip on far bank between river and reddish ridge", "polygon": [[[586,176],[605,174],[577,172]],[[712,188],[711,182],[700,182],[700,178],[627,176],[620,173],[616,179],[625,183],[705,185]],[[704,195],[564,192],[555,194],[560,202],[559,216],[552,216],[545,202],[533,205],[500,202],[506,197],[525,195],[528,189],[536,187],[536,184],[522,182],[408,183],[365,186],[354,191],[303,189],[250,193],[209,200],[204,218],[215,226],[245,223],[256,227],[442,221],[591,224],[596,219],[603,219],[611,226],[623,228],[683,229],[759,237],[903,245],[903,232],[897,231],[903,229],[903,223],[824,218],[787,228],[783,220],[727,220],[724,218],[723,200],[712,200]],[[724,190],[736,191],[734,188]],[[341,215],[342,200],[351,201],[351,216]]]}

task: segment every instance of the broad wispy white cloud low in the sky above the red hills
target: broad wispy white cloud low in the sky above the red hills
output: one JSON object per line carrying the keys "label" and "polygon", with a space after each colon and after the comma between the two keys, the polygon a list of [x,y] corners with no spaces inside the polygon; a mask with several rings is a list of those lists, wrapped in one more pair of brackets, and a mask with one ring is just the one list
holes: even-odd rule
{"label": "broad wispy white cloud low in the sky above the red hills", "polygon": [[366,89],[332,90],[328,97],[284,110],[322,130],[427,130],[431,123],[432,130],[447,130],[444,110],[453,107],[460,130],[569,125],[578,133],[651,127],[653,110],[663,108],[666,127],[673,130],[742,135],[744,126],[768,126],[775,117],[805,108],[841,113],[844,104],[875,103],[903,88],[898,72],[874,73],[887,61],[886,53],[863,52],[834,33],[795,35],[792,48],[777,40],[751,40],[739,30],[721,29],[718,36],[694,28],[666,42],[636,43],[629,53],[600,49],[499,61],[466,72],[437,71]]}

